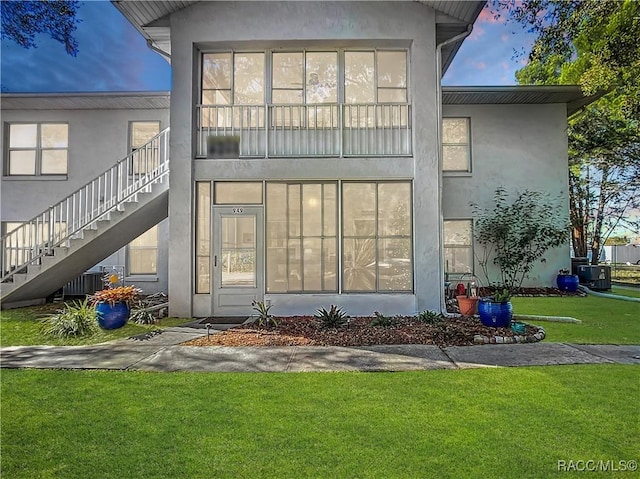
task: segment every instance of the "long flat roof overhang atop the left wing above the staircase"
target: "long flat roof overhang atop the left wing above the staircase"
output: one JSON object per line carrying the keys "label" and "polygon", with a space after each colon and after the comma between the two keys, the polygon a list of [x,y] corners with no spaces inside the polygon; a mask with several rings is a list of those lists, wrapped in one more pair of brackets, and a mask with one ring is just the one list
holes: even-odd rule
{"label": "long flat roof overhang atop the left wing above the staircase", "polygon": [[2,110],[161,110],[169,92],[2,93]]}

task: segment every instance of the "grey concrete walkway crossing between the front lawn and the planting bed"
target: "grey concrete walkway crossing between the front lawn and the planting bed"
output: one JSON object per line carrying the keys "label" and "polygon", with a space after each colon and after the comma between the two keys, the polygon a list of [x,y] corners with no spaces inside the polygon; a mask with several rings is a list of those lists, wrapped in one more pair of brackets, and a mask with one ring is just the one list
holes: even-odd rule
{"label": "grey concrete walkway crossing between the front lawn and the planting bed", "polygon": [[[225,329],[224,325],[216,325]],[[562,343],[327,347],[190,347],[205,331],[174,327],[160,334],[93,346],[13,346],[0,350],[3,368],[129,371],[308,372],[421,371],[559,364],[640,364],[640,345]]]}

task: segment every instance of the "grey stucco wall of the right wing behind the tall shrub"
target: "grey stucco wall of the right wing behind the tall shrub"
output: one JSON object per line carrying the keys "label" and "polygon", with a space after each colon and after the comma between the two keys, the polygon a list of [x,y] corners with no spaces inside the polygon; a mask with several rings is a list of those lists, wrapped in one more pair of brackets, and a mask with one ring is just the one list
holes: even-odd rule
{"label": "grey stucco wall of the right wing behind the tall shrub", "polygon": [[[491,206],[495,189],[503,186],[508,191],[529,189],[548,192],[552,197],[563,195],[568,220],[564,104],[445,105],[443,116],[471,119],[472,156],[470,174],[444,175],[444,219],[472,218],[470,203]],[[525,286],[555,285],[558,270],[570,266],[569,242],[549,251],[545,259],[531,272]],[[475,268],[480,275],[477,263]]]}

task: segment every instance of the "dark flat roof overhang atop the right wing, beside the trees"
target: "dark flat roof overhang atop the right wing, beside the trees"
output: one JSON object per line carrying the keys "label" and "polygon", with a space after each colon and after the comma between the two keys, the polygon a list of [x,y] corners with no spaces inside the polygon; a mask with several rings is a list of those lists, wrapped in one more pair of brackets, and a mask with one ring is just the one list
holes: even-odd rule
{"label": "dark flat roof overhang atop the right wing, beside the trees", "polygon": [[564,103],[567,116],[601,98],[586,96],[578,85],[444,86],[443,105],[534,105]]}

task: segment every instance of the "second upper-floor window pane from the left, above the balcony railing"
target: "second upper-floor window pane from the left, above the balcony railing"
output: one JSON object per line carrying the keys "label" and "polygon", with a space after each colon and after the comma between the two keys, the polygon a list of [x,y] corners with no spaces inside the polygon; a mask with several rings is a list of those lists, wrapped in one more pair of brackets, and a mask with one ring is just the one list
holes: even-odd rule
{"label": "second upper-floor window pane from the left, above the balcony railing", "polygon": [[234,103],[264,103],[264,53],[236,53],[233,68]]}

